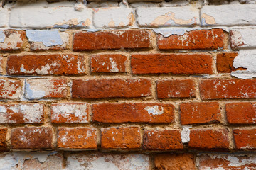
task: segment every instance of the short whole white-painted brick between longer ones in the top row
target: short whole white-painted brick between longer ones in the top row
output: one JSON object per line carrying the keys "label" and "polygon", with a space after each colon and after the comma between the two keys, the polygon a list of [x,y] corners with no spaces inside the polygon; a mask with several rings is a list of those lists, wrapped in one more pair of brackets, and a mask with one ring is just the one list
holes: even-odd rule
{"label": "short whole white-painted brick between longer ones in the top row", "polygon": [[132,8],[97,8],[93,23],[99,28],[123,28],[132,25]]}

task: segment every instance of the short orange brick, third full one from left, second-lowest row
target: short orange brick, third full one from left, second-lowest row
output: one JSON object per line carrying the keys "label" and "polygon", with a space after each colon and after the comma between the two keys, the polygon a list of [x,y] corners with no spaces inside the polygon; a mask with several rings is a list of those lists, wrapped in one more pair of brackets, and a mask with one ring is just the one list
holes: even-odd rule
{"label": "short orange brick, third full one from left, second-lowest row", "polygon": [[141,138],[139,127],[102,128],[101,147],[103,149],[139,149]]}

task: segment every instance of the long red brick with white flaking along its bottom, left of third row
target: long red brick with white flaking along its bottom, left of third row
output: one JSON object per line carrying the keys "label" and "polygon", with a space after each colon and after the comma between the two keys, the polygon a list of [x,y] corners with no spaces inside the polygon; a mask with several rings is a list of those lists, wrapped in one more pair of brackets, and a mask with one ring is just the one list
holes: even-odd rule
{"label": "long red brick with white flaking along its bottom, left of third row", "polygon": [[84,73],[85,59],[81,55],[11,55],[7,60],[7,74],[11,75]]}

